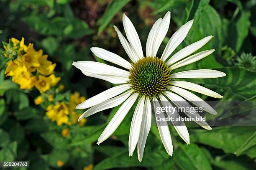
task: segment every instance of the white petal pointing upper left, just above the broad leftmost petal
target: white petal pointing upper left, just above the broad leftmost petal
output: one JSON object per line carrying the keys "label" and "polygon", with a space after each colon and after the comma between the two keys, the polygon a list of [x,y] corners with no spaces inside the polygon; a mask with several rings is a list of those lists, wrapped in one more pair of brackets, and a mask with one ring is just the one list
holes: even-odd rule
{"label": "white petal pointing upper left, just above the broad leftmost petal", "polygon": [[110,51],[107,51],[103,48],[98,48],[98,47],[92,47],[91,51],[92,53],[94,53],[95,56],[101,58],[102,60],[106,60],[111,63],[118,64],[119,66],[122,66],[125,69],[131,69],[131,64],[115,53],[112,53]]}

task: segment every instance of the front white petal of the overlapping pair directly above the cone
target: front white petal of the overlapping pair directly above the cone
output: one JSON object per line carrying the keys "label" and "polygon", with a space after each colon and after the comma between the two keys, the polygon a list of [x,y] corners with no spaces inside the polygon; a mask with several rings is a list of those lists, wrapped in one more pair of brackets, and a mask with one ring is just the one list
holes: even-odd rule
{"label": "front white petal of the overlapping pair directly above the cone", "polygon": [[168,11],[165,15],[164,18],[161,20],[161,23],[156,31],[156,36],[154,38],[153,42],[153,57],[156,56],[157,51],[164,40],[164,37],[166,36],[166,33],[168,31],[169,25],[170,25],[170,20],[171,20],[171,13]]}

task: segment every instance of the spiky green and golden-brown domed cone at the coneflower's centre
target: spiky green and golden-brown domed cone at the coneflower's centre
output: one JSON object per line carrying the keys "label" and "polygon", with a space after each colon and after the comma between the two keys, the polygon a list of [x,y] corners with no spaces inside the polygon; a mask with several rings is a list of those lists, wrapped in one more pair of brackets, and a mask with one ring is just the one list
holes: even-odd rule
{"label": "spiky green and golden-brown domed cone at the coneflower's centre", "polygon": [[133,64],[129,82],[132,89],[152,99],[167,89],[171,70],[157,57],[146,57]]}

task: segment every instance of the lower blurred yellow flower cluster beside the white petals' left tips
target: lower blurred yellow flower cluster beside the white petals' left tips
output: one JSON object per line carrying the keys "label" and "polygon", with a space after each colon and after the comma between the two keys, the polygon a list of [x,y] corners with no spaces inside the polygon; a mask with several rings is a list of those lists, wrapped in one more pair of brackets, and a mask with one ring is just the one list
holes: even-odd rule
{"label": "lower blurred yellow flower cluster beside the white petals' left tips", "polygon": [[[37,98],[35,103],[40,103],[43,99]],[[64,102],[59,102],[55,105],[49,105],[46,108],[46,116],[51,119],[51,121],[56,121],[57,125],[60,126],[61,124],[73,125],[77,124],[78,118],[81,114],[75,112],[75,107],[77,104],[82,103],[85,101],[84,96],[80,96],[79,92],[74,92],[74,94],[70,95],[69,103],[66,104]],[[82,119],[79,121],[79,125],[82,127],[86,119]]]}

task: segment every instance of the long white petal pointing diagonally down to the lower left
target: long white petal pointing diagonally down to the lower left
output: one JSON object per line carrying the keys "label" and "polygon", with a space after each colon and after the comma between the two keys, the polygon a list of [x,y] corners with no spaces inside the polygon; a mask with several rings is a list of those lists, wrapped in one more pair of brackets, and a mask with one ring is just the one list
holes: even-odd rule
{"label": "long white petal pointing diagonally down to the lower left", "polygon": [[108,139],[108,137],[110,137],[110,135],[115,132],[119,124],[123,121],[126,114],[129,112],[129,110],[133,106],[137,97],[138,97],[138,94],[134,93],[122,104],[122,106],[118,109],[114,117],[110,120],[107,127],[104,129],[104,131],[100,135],[97,142],[98,145],[100,145],[100,143],[103,142],[104,140]]}

